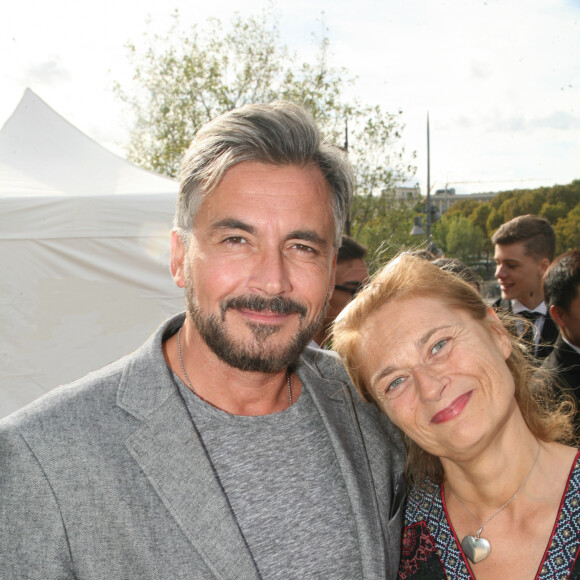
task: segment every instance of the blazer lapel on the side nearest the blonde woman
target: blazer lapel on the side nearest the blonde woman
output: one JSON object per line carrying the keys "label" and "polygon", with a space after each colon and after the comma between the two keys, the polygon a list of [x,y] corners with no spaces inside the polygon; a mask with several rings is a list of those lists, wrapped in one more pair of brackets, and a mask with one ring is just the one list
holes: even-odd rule
{"label": "blazer lapel on the side nearest the blonde woman", "polygon": [[385,553],[377,546],[382,545],[378,538],[383,531],[350,391],[343,382],[321,378],[306,365],[299,367],[298,375],[322,418],[344,477],[358,532],[363,578],[382,578]]}

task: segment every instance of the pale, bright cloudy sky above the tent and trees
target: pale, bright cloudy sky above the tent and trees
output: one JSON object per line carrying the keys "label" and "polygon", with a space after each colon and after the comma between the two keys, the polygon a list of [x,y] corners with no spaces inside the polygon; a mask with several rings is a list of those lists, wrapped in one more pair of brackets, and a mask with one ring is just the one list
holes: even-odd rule
{"label": "pale, bright cloudy sky above the tent and trees", "polygon": [[[132,118],[113,83],[132,76],[125,47],[265,0],[20,0],[0,5],[0,125],[25,88],[124,156]],[[402,110],[413,182],[432,191],[532,189],[580,179],[580,0],[278,0],[281,41],[314,51],[321,20],[349,96]]]}

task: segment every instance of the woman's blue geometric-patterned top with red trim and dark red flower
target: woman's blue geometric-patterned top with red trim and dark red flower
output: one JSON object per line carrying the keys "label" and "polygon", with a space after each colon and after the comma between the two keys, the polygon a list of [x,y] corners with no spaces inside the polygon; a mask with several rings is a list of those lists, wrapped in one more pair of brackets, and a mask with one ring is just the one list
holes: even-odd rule
{"label": "woman's blue geometric-patterned top with red trim and dark red flower", "polygon": [[[536,580],[580,579],[580,452],[570,470],[558,516]],[[429,483],[409,493],[401,544],[399,578],[474,580],[449,522],[445,496]]]}

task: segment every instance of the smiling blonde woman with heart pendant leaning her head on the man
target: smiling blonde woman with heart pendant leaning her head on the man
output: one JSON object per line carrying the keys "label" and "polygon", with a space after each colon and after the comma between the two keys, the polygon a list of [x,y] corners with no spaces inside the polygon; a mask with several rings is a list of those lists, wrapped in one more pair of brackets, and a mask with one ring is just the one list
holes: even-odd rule
{"label": "smiling blonde woman with heart pendant leaning her head on the man", "polygon": [[402,254],[333,348],[407,445],[400,578],[580,577],[574,408],[473,287]]}

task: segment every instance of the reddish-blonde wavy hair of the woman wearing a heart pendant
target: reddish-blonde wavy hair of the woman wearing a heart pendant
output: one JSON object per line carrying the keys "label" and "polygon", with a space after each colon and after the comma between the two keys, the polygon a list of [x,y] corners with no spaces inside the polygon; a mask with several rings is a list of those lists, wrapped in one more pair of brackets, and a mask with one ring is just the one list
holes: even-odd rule
{"label": "reddish-blonde wavy hair of the woman wearing a heart pendant", "polygon": [[[488,315],[489,307],[478,292],[456,274],[405,253],[391,260],[339,315],[332,336],[333,349],[345,362],[359,393],[379,407],[381,402],[369,388],[361,369],[361,331],[369,316],[384,304],[422,296],[436,298],[451,308],[469,313],[489,332],[492,327],[500,326]],[[513,332],[513,317],[504,318],[502,331],[512,342],[512,352],[506,363],[514,379],[517,404],[530,431],[542,441],[575,443],[573,418],[576,411],[572,398],[556,395],[554,375],[547,369],[538,369],[530,361],[525,345]],[[402,437],[407,448],[408,478],[416,485],[426,479],[441,483],[443,466],[439,458],[427,453],[404,433]]]}

